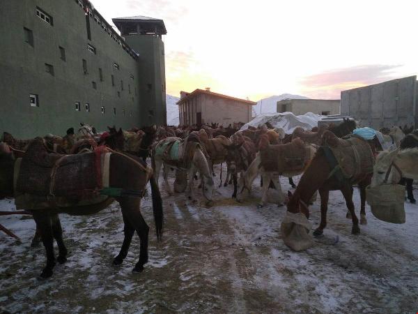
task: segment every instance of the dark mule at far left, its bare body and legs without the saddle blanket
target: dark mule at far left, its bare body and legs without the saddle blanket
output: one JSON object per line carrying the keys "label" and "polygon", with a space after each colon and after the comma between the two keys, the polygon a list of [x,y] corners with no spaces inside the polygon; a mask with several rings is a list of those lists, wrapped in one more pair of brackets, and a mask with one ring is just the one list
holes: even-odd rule
{"label": "dark mule at far left, its bare body and legs without the saddle blanket", "polygon": [[[93,153],[91,153],[93,154]],[[84,154],[86,156],[86,154]],[[7,151],[0,151],[0,198],[14,197],[15,189],[13,184],[14,168],[16,159],[13,154]],[[141,160],[135,156],[126,154],[111,154],[109,161],[109,186],[122,188],[124,190],[144,190],[147,182],[150,182],[153,197],[153,213],[155,220],[155,232],[157,239],[161,239],[163,232],[163,211],[160,190],[155,181],[155,176],[149,167],[146,167]],[[65,184],[61,182],[61,184]],[[20,191],[24,192],[24,191]],[[42,243],[45,246],[47,262],[40,274],[41,278],[52,276],[56,260],[64,263],[67,260],[67,248],[63,241],[63,232],[59,220],[60,213],[70,215],[89,215],[95,214],[105,209],[116,200],[121,205],[124,227],[124,240],[121,251],[114,257],[114,264],[121,264],[130,247],[132,236],[135,231],[140,239],[139,260],[133,269],[140,272],[144,269],[144,264],[148,262],[148,231],[149,227],[141,215],[141,198],[120,196],[99,202],[98,204],[72,206],[72,207],[53,207],[45,209],[31,210],[36,227],[40,230]],[[59,256],[55,260],[54,239],[59,248]]]}

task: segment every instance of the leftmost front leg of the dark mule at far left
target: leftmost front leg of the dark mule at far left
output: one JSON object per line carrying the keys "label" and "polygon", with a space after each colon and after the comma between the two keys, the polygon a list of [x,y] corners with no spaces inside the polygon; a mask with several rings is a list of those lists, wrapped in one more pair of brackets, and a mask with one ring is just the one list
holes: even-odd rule
{"label": "leftmost front leg of the dark mule at far left", "polygon": [[52,276],[55,266],[54,256],[54,237],[52,235],[51,217],[49,214],[33,212],[33,220],[35,220],[36,227],[40,231],[40,237],[47,253],[47,265],[40,273],[40,277],[48,278]]}

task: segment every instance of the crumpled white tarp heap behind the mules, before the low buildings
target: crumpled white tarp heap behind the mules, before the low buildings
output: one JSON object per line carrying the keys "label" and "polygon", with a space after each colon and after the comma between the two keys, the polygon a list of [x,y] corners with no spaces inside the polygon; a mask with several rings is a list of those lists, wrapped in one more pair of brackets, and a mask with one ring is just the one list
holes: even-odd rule
{"label": "crumpled white tarp heap behind the mules, before the low buildings", "polygon": [[312,112],[307,112],[306,114],[302,114],[300,116],[295,116],[292,112],[265,113],[260,114],[249,121],[247,124],[242,126],[240,130],[247,130],[249,126],[257,128],[258,126],[262,126],[266,122],[269,122],[274,128],[283,128],[285,133],[291,134],[297,126],[300,126],[305,130],[311,130],[314,126],[318,126],[318,121],[320,121],[323,117],[327,116],[313,114]]}

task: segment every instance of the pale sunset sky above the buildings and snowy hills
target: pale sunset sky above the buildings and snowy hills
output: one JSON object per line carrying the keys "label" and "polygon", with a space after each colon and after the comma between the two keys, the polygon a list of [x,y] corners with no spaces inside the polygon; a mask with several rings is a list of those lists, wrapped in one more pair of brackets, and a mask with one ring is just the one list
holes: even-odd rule
{"label": "pale sunset sky above the buildings and snowy hills", "polygon": [[418,1],[93,0],[112,17],[164,20],[167,93],[210,87],[250,100],[416,75]]}

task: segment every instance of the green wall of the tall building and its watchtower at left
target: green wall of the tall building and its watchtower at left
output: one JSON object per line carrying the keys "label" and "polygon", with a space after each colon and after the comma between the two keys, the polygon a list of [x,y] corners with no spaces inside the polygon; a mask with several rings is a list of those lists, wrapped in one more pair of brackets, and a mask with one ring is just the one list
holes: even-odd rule
{"label": "green wall of the tall building and its watchtower at left", "polygon": [[[156,60],[148,54],[156,54],[153,50],[161,45],[164,49],[160,38],[161,43],[140,40],[144,42],[138,45],[142,51],[138,50],[140,57],[134,58],[89,15],[91,40],[88,40],[86,14],[77,1],[2,0],[1,4],[1,133],[7,131],[26,138],[47,133],[64,135],[65,130],[77,128],[80,122],[98,130],[111,125],[131,128],[165,123],[165,95],[162,100],[162,92],[154,88],[162,85],[156,80],[165,81],[161,72],[164,58],[162,66],[148,64]],[[53,18],[53,25],[36,15],[37,7]],[[33,46],[25,42],[24,28],[32,31]],[[88,50],[88,44],[95,47],[95,54]],[[65,61],[59,47],[65,49]],[[83,59],[87,63],[86,73]],[[54,67],[54,75],[47,72],[45,63]],[[158,68],[160,75],[153,75],[153,68]],[[153,89],[149,90],[144,82],[153,84]],[[39,107],[31,107],[29,94],[38,95]],[[154,94],[155,97],[150,97]],[[75,110],[76,102],[81,104],[80,111]],[[89,112],[86,103],[90,105]],[[148,110],[152,108],[155,114],[150,121]]]}

